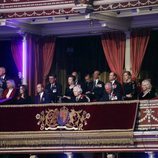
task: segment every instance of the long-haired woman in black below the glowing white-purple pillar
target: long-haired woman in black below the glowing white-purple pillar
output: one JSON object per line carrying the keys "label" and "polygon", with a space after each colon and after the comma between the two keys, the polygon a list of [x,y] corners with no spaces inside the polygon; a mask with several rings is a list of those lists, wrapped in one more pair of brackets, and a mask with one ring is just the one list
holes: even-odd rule
{"label": "long-haired woman in black below the glowing white-purple pillar", "polygon": [[16,103],[17,104],[30,104],[31,103],[31,97],[28,95],[28,90],[25,85],[20,86]]}

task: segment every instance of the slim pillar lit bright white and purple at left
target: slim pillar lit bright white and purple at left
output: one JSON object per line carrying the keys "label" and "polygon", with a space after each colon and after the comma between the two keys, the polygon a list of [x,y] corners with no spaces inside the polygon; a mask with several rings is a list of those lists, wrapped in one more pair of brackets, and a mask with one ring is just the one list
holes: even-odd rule
{"label": "slim pillar lit bright white and purple at left", "polygon": [[26,56],[26,51],[27,51],[27,40],[26,40],[26,35],[23,36],[23,43],[22,43],[22,83],[24,85],[27,85],[27,56]]}

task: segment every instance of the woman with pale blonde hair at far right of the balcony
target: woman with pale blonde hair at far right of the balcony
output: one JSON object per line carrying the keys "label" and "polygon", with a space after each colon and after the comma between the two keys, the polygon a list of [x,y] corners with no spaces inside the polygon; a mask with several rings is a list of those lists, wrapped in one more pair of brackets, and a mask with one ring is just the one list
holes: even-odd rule
{"label": "woman with pale blonde hair at far right of the balcony", "polygon": [[155,97],[155,93],[152,90],[152,85],[150,79],[145,79],[141,83],[141,93],[139,94],[139,99],[152,99]]}

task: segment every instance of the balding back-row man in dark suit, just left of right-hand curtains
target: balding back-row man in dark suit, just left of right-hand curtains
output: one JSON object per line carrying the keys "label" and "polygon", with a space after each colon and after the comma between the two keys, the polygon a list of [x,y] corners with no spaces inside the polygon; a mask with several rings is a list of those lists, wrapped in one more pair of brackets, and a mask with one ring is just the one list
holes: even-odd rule
{"label": "balding back-row man in dark suit, just left of right-hand curtains", "polygon": [[98,70],[93,73],[93,91],[94,100],[99,101],[104,93],[104,82],[99,80],[100,72]]}

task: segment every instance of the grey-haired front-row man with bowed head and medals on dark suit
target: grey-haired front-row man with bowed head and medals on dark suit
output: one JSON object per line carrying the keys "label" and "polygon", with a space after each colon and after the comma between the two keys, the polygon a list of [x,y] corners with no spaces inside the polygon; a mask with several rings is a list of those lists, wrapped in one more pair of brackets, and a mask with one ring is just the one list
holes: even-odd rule
{"label": "grey-haired front-row man with bowed head and medals on dark suit", "polygon": [[122,100],[121,93],[115,92],[112,83],[108,82],[105,84],[105,92],[101,97],[100,101],[114,101],[114,100]]}

